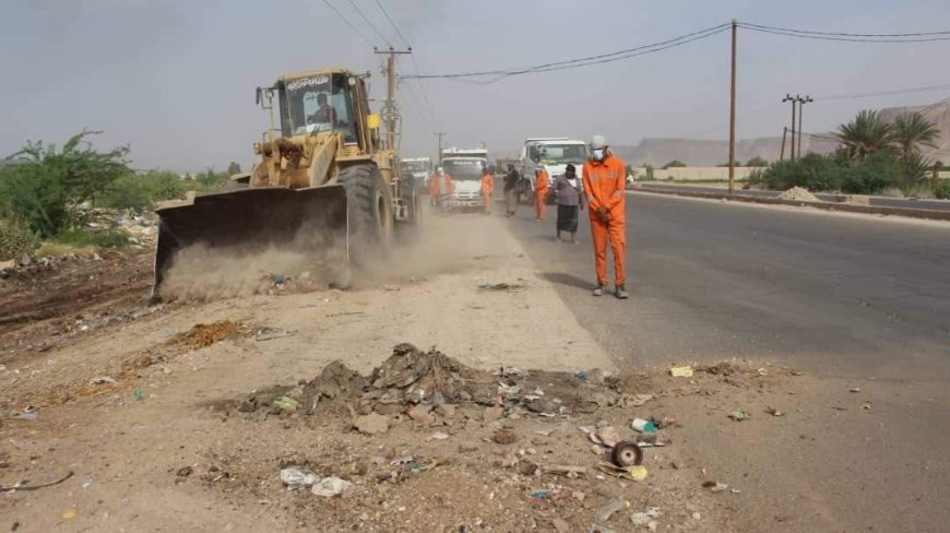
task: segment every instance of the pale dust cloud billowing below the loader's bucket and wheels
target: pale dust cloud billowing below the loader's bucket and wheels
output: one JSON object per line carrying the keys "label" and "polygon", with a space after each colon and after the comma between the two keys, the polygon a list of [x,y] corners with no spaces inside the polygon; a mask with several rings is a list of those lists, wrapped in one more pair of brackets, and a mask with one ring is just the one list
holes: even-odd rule
{"label": "pale dust cloud billowing below the loader's bucket and wheels", "polygon": [[[175,256],[158,296],[165,300],[211,300],[253,294],[310,292],[334,286],[369,289],[382,284],[462,272],[485,265],[503,245],[497,222],[475,214],[429,214],[419,228],[397,226],[388,249],[328,242],[323,249],[285,245],[265,248],[188,247]],[[311,237],[312,238],[312,237]]]}

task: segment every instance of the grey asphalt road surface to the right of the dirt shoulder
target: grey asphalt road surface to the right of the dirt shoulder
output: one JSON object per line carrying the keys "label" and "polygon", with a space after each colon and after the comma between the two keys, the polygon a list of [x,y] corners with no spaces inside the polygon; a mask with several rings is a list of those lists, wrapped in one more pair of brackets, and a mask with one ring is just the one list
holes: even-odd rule
{"label": "grey asphalt road surface to the right of the dirt shoulder", "polygon": [[620,367],[806,371],[779,424],[732,429],[703,407],[715,398],[679,413],[680,446],[741,484],[725,504],[741,531],[947,531],[950,224],[629,193],[622,301],[590,295],[585,213],[569,245],[553,210],[543,224],[530,211],[510,232]]}

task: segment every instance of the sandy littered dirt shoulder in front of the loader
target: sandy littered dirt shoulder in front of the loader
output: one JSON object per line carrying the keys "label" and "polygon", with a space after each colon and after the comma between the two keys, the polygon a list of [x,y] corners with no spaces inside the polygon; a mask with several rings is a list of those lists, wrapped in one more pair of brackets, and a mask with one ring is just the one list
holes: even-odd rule
{"label": "sandy littered dirt shoulder in front of the loader", "polygon": [[[539,271],[498,220],[435,218],[399,269],[361,288],[149,308],[10,358],[0,371],[2,486],[72,475],[8,490],[0,516],[17,531],[734,529],[743,483],[703,488],[722,473],[694,453],[700,436],[681,413],[723,391],[783,393],[793,378],[744,365],[731,382],[664,369],[602,382],[594,369],[614,370],[613,362]],[[41,344],[44,330],[29,331],[24,343]],[[312,399],[301,383],[335,359],[370,376],[403,342],[437,346],[471,369],[450,372],[452,382],[494,394],[443,398],[453,408],[431,390],[416,399],[423,407],[404,395],[274,407],[283,395]],[[399,393],[418,393],[409,389],[419,375],[397,380]],[[385,433],[354,429],[367,405],[384,413]],[[27,406],[36,419],[24,419]],[[725,414],[715,412],[726,427],[769,423],[758,412],[743,423]],[[644,451],[646,479],[597,470],[579,428],[636,438],[638,416],[669,424],[655,437],[667,446]],[[352,486],[331,498],[290,491],[280,479],[288,466]],[[616,501],[620,509],[598,520]]]}

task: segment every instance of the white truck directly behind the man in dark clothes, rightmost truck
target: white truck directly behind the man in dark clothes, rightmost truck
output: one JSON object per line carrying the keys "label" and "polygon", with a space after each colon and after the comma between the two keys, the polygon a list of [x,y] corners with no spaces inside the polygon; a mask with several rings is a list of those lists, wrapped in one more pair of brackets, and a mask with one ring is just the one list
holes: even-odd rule
{"label": "white truck directly behind the man in dark clothes, rightmost truck", "polygon": [[518,171],[521,182],[518,185],[518,201],[534,203],[535,171],[543,166],[550,176],[548,183],[548,202],[553,201],[554,182],[565,174],[568,164],[573,164],[578,179],[583,178],[584,162],[587,161],[587,145],[584,141],[567,137],[530,137],[525,139],[518,158]]}

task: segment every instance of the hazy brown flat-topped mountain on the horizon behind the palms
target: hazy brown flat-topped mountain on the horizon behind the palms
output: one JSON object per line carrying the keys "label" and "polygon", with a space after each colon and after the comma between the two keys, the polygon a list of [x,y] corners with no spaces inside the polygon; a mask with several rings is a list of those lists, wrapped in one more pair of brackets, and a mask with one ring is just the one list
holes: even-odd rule
{"label": "hazy brown flat-topped mountain on the horizon behind the palms", "polygon": [[[950,103],[917,106],[917,107],[892,107],[881,109],[881,115],[886,120],[893,120],[898,115],[906,111],[925,111],[925,117],[934,121],[941,131],[940,140],[937,143],[937,150],[925,150],[924,154],[933,157],[950,159]],[[823,133],[828,134],[828,133]],[[787,141],[792,142],[791,139]],[[816,152],[827,154],[833,152],[838,146],[834,141],[826,141],[820,139],[801,139],[801,151],[804,153]],[[624,161],[634,166],[654,165],[661,166],[669,163],[673,159],[679,159],[690,166],[715,166],[726,163],[729,158],[728,141],[706,141],[700,139],[643,139],[636,146],[616,145],[611,146],[614,152]],[[785,157],[788,157],[789,146],[785,146]],[[759,139],[746,139],[736,142],[736,159],[740,163],[747,162],[752,157],[762,157],[767,161],[779,159],[779,154],[782,151],[781,137],[767,137]]]}

